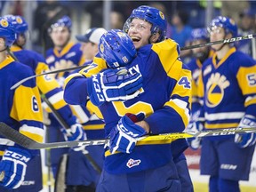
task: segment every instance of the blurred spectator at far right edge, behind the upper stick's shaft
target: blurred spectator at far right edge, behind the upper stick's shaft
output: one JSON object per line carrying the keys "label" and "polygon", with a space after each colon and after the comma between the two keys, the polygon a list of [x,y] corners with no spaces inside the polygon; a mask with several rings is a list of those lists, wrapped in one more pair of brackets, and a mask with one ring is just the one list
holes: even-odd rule
{"label": "blurred spectator at far right edge, behind the upper stick's shaft", "polygon": [[[240,13],[240,25],[238,34],[246,36],[255,33],[255,12],[252,9],[246,9]],[[238,50],[252,56],[252,40],[240,41],[237,45]]]}

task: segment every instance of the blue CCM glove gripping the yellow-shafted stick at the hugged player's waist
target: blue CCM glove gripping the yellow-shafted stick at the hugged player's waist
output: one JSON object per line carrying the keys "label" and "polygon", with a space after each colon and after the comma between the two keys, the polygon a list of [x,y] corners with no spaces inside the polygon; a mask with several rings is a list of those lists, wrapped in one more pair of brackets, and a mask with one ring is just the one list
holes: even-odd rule
{"label": "blue CCM glove gripping the yellow-shafted stick at the hugged player's waist", "polygon": [[[129,115],[131,116],[131,114]],[[110,142],[109,148],[110,152],[113,154],[116,150],[123,153],[131,153],[132,149],[135,147],[137,139],[147,132],[137,124],[134,124],[134,115],[123,116],[116,127],[114,127],[110,132]]]}

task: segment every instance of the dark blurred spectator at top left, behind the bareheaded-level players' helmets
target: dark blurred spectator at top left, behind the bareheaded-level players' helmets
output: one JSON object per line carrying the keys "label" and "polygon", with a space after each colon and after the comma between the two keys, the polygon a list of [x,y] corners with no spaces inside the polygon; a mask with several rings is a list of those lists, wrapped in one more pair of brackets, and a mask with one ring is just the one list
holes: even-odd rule
{"label": "dark blurred spectator at top left, behind the bareheaded-level players' helmets", "polygon": [[[38,4],[36,8],[34,17],[34,28],[37,36],[35,38],[35,44],[40,47],[42,46],[42,44],[44,44],[44,50],[47,50],[53,46],[52,40],[50,36],[48,36],[47,28],[50,27],[52,22],[60,19],[59,17],[56,18],[56,20],[52,20],[52,22],[49,22],[51,21],[51,19],[54,19],[58,12],[63,12],[60,17],[69,13],[68,9],[60,4],[60,2],[58,2],[57,0],[45,0],[44,2]],[[38,49],[37,51],[44,52],[44,50]]]}

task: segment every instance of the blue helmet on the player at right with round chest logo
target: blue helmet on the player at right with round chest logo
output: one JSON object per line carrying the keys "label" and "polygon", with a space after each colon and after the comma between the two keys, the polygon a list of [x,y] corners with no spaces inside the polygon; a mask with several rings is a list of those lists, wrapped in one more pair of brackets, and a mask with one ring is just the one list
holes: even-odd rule
{"label": "blue helmet on the player at right with round chest logo", "polygon": [[218,16],[217,18],[213,19],[210,23],[209,27],[207,28],[209,32],[212,31],[212,29],[220,27],[224,28],[225,33],[231,33],[233,37],[237,36],[237,26],[236,22],[228,17]]}

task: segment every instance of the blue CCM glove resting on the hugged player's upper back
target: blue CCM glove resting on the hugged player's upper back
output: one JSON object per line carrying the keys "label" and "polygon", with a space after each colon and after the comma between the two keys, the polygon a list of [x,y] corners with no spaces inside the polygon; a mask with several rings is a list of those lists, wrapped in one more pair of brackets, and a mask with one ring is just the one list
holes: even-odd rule
{"label": "blue CCM glove resting on the hugged player's upper back", "polygon": [[126,68],[109,68],[88,79],[87,91],[96,106],[105,101],[131,100],[142,87],[140,73],[130,74]]}

